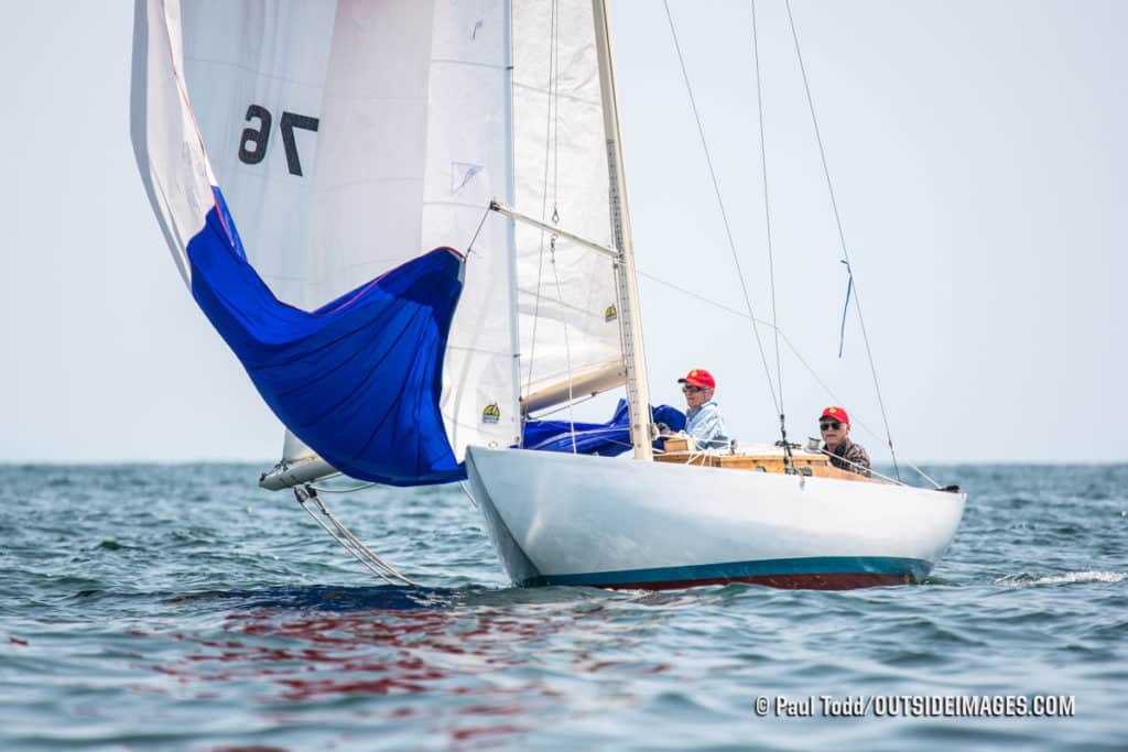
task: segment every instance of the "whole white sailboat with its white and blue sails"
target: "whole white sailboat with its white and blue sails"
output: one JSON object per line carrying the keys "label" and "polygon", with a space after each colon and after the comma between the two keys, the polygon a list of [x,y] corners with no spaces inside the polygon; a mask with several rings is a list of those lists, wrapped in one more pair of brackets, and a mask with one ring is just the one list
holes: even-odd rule
{"label": "whole white sailboat with its white and blue sails", "polygon": [[261,485],[461,483],[522,586],[919,582],[964,494],[658,436],[611,47],[606,0],[136,0],[136,161],[287,427]]}

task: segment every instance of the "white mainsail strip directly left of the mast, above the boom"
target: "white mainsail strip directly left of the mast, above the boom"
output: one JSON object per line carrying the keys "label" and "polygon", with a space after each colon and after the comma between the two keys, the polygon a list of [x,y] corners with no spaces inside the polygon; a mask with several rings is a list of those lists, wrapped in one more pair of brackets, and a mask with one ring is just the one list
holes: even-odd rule
{"label": "white mainsail strip directly left of the mast, above the boom", "polygon": [[[614,247],[592,3],[514,3],[513,35],[514,205]],[[623,382],[609,258],[518,224],[517,280],[523,396],[608,371],[603,389]]]}

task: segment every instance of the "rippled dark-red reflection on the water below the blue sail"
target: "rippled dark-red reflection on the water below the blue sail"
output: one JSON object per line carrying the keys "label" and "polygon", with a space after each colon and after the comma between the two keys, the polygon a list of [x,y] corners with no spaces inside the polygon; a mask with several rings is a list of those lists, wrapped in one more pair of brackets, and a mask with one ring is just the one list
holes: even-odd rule
{"label": "rippled dark-red reflection on the water below the blue sail", "polygon": [[[513,717],[543,707],[555,692],[536,680],[502,687],[490,681],[490,674],[528,665],[528,643],[545,639],[567,621],[519,619],[491,609],[238,612],[223,625],[227,638],[175,635],[199,649],[152,669],[180,683],[262,679],[277,688],[276,698],[293,701],[424,692],[484,695],[488,702],[457,708],[456,713]],[[215,693],[206,696],[214,698]],[[450,710],[448,707],[446,713]],[[416,715],[403,706],[380,707],[379,711],[389,718]],[[469,738],[506,728],[520,731],[518,726],[491,725],[450,733]]]}

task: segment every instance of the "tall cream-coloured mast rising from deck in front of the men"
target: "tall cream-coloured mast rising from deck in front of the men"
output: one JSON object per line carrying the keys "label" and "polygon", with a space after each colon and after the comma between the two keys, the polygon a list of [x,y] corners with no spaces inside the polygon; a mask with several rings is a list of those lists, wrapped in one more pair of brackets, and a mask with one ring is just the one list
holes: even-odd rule
{"label": "tall cream-coloured mast rising from deck in front of the men", "polygon": [[642,321],[638,317],[638,280],[635,275],[634,242],[631,216],[627,213],[627,180],[623,167],[623,144],[619,136],[619,106],[611,62],[611,28],[607,17],[609,0],[592,0],[596,21],[596,52],[599,57],[600,96],[603,100],[603,134],[607,139],[611,230],[618,251],[615,280],[618,286],[619,333],[623,338],[623,361],[627,377],[627,409],[631,414],[631,443],[636,460],[653,459],[651,444],[650,389],[646,386],[646,355],[642,344]]}

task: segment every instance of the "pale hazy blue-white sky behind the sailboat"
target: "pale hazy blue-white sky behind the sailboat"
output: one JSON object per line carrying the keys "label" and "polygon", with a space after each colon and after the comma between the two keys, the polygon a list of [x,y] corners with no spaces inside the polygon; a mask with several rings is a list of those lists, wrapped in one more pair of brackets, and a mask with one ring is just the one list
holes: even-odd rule
{"label": "pale hazy blue-white sky behind the sailboat", "polygon": [[[749,3],[671,0],[754,309],[770,318]],[[759,0],[779,325],[888,459],[784,6]],[[1125,461],[1128,3],[793,0],[898,454]],[[276,419],[196,309],[130,145],[132,2],[0,2],[0,461],[277,459]],[[655,402],[710,369],[730,433],[777,421],[666,11],[614,35]],[[761,329],[775,369],[770,330]],[[831,402],[784,350],[788,432]],[[606,412],[606,402],[587,410]],[[587,417],[593,417],[587,415]],[[874,437],[861,425],[881,434]]]}

